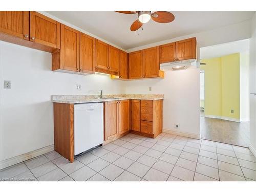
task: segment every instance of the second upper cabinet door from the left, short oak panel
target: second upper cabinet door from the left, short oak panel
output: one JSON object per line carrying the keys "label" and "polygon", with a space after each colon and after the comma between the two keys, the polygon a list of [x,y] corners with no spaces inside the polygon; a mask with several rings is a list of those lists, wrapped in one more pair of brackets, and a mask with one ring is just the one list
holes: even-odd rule
{"label": "second upper cabinet door from the left, short oak panel", "polygon": [[60,48],[60,23],[45,15],[30,11],[30,41]]}

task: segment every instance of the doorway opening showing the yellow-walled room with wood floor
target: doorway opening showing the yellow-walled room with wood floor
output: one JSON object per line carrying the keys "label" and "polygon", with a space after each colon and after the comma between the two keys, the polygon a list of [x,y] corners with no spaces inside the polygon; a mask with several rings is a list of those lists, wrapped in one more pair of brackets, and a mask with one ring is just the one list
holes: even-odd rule
{"label": "doorway opening showing the yellow-walled room with wood floor", "polygon": [[249,146],[249,39],[200,48],[202,139]]}

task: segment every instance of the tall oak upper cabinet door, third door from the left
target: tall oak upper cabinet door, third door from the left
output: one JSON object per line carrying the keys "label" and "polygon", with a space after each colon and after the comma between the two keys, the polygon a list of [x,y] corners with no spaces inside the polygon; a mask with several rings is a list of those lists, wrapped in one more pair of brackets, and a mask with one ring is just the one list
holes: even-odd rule
{"label": "tall oak upper cabinet door, third door from the left", "polygon": [[80,32],[61,24],[60,69],[79,71]]}

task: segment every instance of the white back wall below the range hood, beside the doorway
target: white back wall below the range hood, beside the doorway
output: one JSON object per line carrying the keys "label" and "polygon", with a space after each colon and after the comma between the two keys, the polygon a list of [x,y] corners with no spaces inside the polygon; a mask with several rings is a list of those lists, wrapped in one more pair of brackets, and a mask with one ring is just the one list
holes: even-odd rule
{"label": "white back wall below the range hood, beside the doorway", "polygon": [[[126,94],[164,94],[163,129],[199,136],[200,69],[166,71],[164,79],[126,81],[125,88]],[[180,129],[174,129],[174,123]]]}

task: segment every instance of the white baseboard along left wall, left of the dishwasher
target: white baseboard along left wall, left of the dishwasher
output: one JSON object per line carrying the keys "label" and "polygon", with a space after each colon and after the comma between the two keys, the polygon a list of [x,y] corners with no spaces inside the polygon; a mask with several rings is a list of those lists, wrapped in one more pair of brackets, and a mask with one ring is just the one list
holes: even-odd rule
{"label": "white baseboard along left wall, left of the dishwasher", "polygon": [[35,150],[32,152],[28,152],[28,153],[25,153],[22,155],[18,155],[18,156],[9,158],[9,159],[2,160],[2,161],[0,161],[0,169],[9,167],[11,165],[15,165],[17,163],[20,163],[20,162],[26,161],[28,159],[37,157],[39,155],[51,152],[53,150],[54,150],[54,145],[49,145],[49,146],[46,146],[43,148],[39,148],[38,150]]}

